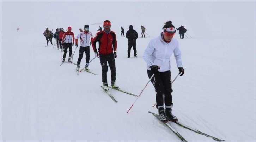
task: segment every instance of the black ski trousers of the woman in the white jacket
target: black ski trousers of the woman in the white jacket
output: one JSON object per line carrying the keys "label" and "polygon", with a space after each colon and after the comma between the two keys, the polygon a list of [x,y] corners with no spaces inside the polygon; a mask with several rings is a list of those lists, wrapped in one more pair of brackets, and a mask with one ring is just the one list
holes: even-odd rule
{"label": "black ski trousers of the woman in the white jacket", "polygon": [[[151,70],[147,70],[149,78],[153,75]],[[163,107],[171,108],[172,105],[172,84],[171,84],[171,71],[157,72],[151,79],[155,87],[157,108]],[[165,97],[164,97],[165,96]]]}

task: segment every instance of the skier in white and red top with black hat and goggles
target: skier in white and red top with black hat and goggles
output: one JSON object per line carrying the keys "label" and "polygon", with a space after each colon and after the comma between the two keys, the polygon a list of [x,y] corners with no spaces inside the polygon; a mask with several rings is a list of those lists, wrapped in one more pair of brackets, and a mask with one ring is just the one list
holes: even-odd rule
{"label": "skier in white and red top with black hat and goggles", "polygon": [[[80,38],[81,41],[80,41],[79,57],[77,60],[76,70],[78,71],[80,68],[80,63],[83,58],[84,52],[85,52],[85,56],[86,56],[86,61],[85,61],[86,65],[88,64],[85,69],[89,70],[88,66],[89,66],[89,61],[90,61],[90,45],[91,45],[91,42],[93,39],[93,34],[92,34],[92,32],[89,31],[89,25],[84,25],[84,31],[82,31],[75,37],[75,46],[76,47],[78,47],[78,44],[77,44],[78,38]],[[91,39],[91,42],[89,42],[90,39]]]}

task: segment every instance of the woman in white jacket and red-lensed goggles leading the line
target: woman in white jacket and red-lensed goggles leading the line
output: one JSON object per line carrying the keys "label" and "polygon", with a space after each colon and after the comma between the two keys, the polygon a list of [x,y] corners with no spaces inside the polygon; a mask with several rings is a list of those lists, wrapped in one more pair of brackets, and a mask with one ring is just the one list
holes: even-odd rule
{"label": "woman in white jacket and red-lensed goggles leading the line", "polygon": [[[168,120],[178,121],[177,117],[172,115],[172,85],[171,85],[171,61],[172,53],[175,56],[179,73],[184,74],[182,67],[181,51],[175,35],[175,27],[171,21],[165,23],[163,32],[152,39],[145,49],[143,59],[147,64],[148,77],[154,74],[151,82],[156,90],[156,102],[160,119],[164,122]],[[165,95],[165,97],[164,97]],[[164,106],[165,104],[165,106]],[[165,110],[164,110],[165,107]]]}

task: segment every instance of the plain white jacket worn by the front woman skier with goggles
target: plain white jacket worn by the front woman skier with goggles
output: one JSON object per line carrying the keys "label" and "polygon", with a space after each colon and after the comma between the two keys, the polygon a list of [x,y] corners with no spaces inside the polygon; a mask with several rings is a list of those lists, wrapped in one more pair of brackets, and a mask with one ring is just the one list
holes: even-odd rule
{"label": "plain white jacket worn by the front woman skier with goggles", "polygon": [[160,36],[150,40],[144,51],[143,59],[147,63],[147,69],[151,70],[150,66],[157,65],[160,67],[158,72],[171,70],[170,58],[172,53],[176,59],[177,67],[182,67],[181,51],[179,50],[178,41],[172,38],[171,42],[166,43],[161,33]]}

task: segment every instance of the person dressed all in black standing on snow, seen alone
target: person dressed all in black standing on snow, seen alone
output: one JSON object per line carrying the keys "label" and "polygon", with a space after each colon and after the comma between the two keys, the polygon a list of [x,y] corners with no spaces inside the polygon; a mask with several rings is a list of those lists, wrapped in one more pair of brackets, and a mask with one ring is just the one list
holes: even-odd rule
{"label": "person dressed all in black standing on snow, seen alone", "polygon": [[127,58],[130,58],[131,49],[133,46],[134,57],[137,57],[136,50],[136,39],[138,38],[138,33],[133,29],[133,25],[129,26],[129,30],[126,32],[126,38],[128,39],[128,55]]}

